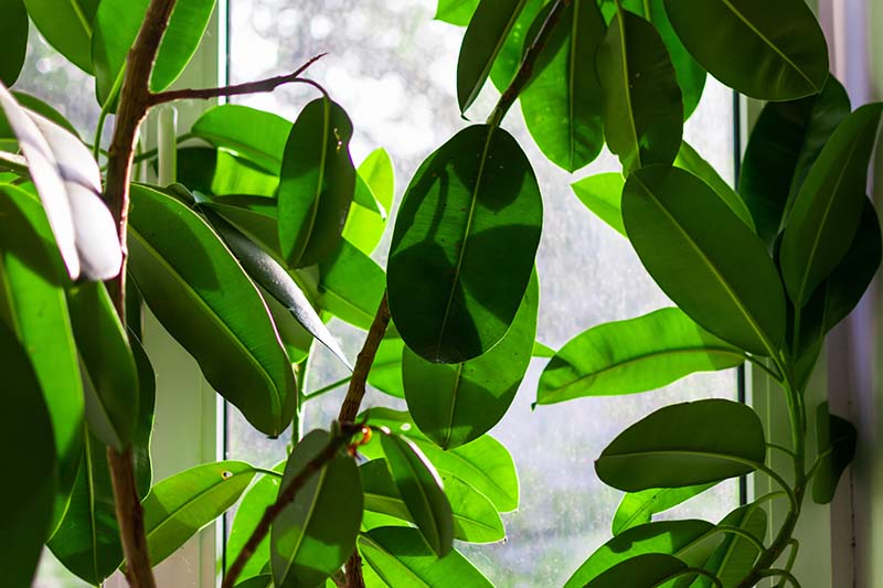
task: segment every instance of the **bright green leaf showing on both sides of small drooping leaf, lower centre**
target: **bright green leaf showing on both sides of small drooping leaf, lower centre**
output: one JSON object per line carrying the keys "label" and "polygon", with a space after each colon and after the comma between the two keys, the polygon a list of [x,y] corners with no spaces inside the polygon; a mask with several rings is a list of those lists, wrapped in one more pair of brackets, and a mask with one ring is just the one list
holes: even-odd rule
{"label": "bright green leaf showing on both sides of small drooping leaf, lower centre", "polygon": [[[365,495],[365,510],[414,522],[402,494],[390,474],[385,459],[359,467]],[[469,543],[493,543],[506,538],[506,530],[493,504],[455,475],[442,473],[445,494],[454,518],[454,538]]]}

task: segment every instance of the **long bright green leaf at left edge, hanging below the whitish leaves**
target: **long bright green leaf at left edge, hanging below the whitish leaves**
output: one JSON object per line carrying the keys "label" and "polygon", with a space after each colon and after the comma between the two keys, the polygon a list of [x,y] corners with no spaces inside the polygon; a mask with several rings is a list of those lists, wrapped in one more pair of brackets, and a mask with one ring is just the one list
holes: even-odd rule
{"label": "long bright green leaf at left edge, hanging below the whitish leaves", "polygon": [[[40,202],[22,190],[2,186],[0,322],[18,335],[40,382],[58,456],[58,491],[65,495],[76,477],[84,406],[76,343],[54,252]],[[56,515],[63,503],[63,499],[56,503]]]}

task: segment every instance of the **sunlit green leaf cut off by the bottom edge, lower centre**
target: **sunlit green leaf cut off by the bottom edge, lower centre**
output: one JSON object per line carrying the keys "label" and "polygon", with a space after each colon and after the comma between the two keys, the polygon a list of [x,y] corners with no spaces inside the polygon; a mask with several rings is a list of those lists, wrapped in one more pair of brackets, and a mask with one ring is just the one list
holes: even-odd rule
{"label": "sunlit green leaf cut off by the bottom edge, lower centre", "polygon": [[359,553],[389,586],[493,586],[456,549],[445,557],[437,557],[416,528],[387,526],[362,533],[359,535]]}

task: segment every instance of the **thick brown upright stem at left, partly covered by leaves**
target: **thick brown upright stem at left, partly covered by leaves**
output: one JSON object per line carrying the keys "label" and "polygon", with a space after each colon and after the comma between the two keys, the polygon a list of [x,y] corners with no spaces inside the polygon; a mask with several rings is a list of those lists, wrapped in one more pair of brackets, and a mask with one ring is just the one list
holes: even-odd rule
{"label": "thick brown upright stem at left, partly covered by leaves", "polygon": [[[119,276],[109,284],[109,290],[124,328],[126,324],[126,258],[128,255],[126,229],[131,160],[138,127],[148,109],[150,73],[153,70],[162,34],[169,25],[169,17],[174,8],[174,2],[175,0],[151,0],[147,8],[138,36],[126,60],[126,73],[119,95],[114,137],[107,151],[104,200],[117,223],[119,245],[123,249]],[[121,452],[108,448],[107,458],[114,487],[114,506],[119,523],[123,553],[126,557],[126,578],[135,588],[155,588],[156,580],[150,567],[150,556],[145,536],[143,511],[135,483],[131,447]]]}

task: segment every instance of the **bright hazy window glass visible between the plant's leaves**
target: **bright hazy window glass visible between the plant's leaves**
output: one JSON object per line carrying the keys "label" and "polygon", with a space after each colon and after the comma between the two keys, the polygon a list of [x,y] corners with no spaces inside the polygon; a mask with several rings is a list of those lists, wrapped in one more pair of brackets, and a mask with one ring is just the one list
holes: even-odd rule
{"label": "bright hazy window glass visible between the plant's leaves", "polygon": [[[434,0],[236,0],[231,2],[231,82],[291,71],[328,52],[308,76],[325,85],[350,114],[359,163],[384,147],[396,167],[397,197],[432,150],[466,122],[454,95],[462,29],[432,20]],[[315,96],[302,86],[244,97],[242,104],[294,119]],[[470,113],[490,111],[497,94],[486,90]],[[688,124],[687,138],[722,172],[733,175],[732,93],[709,79]],[[576,179],[618,170],[605,152],[573,177],[552,165],[524,129],[518,107],[504,125],[533,162],[544,199],[539,339],[555,349],[583,330],[670,304],[647,276],[629,244],[574,196]],[[375,255],[385,260],[386,242]],[[351,356],[363,333],[333,321]],[[521,478],[521,506],[504,515],[506,544],[466,546],[465,552],[497,586],[555,586],[609,537],[621,493],[596,478],[593,460],[626,426],[673,402],[736,397],[735,371],[688,377],[664,389],[632,396],[591,398],[531,410],[542,361],[534,361],[513,407],[491,432],[512,452]],[[315,354],[307,392],[345,371],[323,350]],[[306,426],[326,427],[337,416],[343,389],[309,403]],[[363,407],[395,406],[370,392]],[[263,439],[231,410],[230,457],[269,466],[285,456],[289,439]],[[688,504],[691,516],[717,520],[737,503],[736,483],[721,484]]]}

